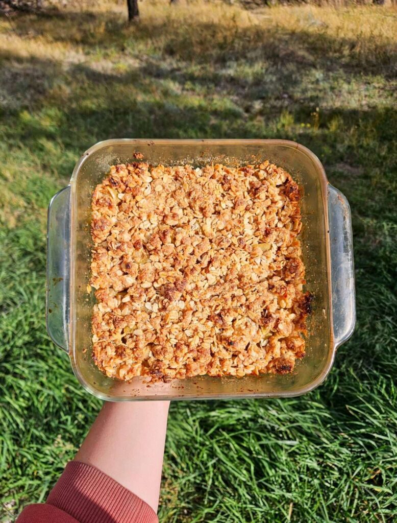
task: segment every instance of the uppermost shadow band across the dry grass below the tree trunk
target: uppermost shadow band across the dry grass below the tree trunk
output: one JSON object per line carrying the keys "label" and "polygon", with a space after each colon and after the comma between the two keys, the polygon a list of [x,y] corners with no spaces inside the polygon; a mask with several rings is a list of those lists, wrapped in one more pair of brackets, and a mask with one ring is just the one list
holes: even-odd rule
{"label": "uppermost shadow band across the dry grass below the tree trunk", "polygon": [[[194,30],[186,21],[159,16],[128,25],[115,13],[57,12],[52,16],[19,16],[15,30],[23,38],[43,36],[65,42],[131,54],[150,45],[164,58],[190,64],[225,64],[267,61],[284,67],[296,64],[302,71],[323,66],[327,70],[343,69],[392,77],[397,70],[397,46],[363,36],[330,36],[324,28],[317,31],[275,27],[259,21],[249,27],[239,26],[232,18],[225,24],[196,20]],[[145,52],[144,49],[142,49]]]}

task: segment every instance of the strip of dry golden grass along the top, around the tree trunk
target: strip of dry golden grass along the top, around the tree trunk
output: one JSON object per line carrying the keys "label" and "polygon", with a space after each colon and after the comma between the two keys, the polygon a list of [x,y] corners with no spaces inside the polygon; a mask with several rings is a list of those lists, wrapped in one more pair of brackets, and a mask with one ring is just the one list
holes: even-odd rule
{"label": "strip of dry golden grass along the top, around the tree trunk", "polygon": [[[336,53],[350,51],[358,60],[376,61],[395,50],[397,10],[395,7],[276,6],[248,11],[224,3],[190,2],[170,6],[168,1],[142,2],[141,20],[126,24],[124,3],[102,1],[91,13],[89,3],[62,8],[56,18],[24,16],[14,21],[0,19],[0,53],[12,50],[19,58],[51,58],[80,61],[81,46],[109,47],[125,38],[134,46],[150,46],[181,59],[198,60],[213,55],[258,53],[268,33],[277,36],[275,45],[288,33],[299,35],[321,52],[330,46]],[[33,20],[33,26],[30,23]],[[194,25],[192,25],[194,20]],[[274,52],[274,48],[270,52]]]}

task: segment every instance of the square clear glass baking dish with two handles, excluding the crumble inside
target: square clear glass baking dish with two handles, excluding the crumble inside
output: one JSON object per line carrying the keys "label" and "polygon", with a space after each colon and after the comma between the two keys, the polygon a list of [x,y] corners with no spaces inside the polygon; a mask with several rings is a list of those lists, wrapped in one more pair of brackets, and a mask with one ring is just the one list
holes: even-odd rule
{"label": "square clear glass baking dish with two handles, excluding the crumble inside", "polygon": [[[270,160],[287,169],[302,187],[301,242],[306,289],[314,294],[307,355],[283,376],[211,378],[169,383],[134,378],[126,383],[102,374],[91,358],[94,293],[90,272],[91,194],[115,163],[141,152],[151,164],[208,162],[238,165]],[[306,393],[329,373],[335,352],[355,326],[352,226],[349,204],[332,187],[318,158],[286,140],[107,140],[86,151],[70,184],[51,200],[48,211],[46,324],[53,342],[69,354],[80,383],[104,400],[186,400],[231,397],[286,397]]]}

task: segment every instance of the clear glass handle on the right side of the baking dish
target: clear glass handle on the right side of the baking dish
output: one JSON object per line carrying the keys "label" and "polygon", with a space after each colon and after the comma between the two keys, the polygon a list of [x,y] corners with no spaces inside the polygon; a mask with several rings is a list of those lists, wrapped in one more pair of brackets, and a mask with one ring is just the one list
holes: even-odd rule
{"label": "clear glass handle on the right side of the baking dish", "polygon": [[353,233],[350,206],[341,191],[328,186],[328,220],[331,246],[332,322],[335,348],[344,343],[356,325]]}

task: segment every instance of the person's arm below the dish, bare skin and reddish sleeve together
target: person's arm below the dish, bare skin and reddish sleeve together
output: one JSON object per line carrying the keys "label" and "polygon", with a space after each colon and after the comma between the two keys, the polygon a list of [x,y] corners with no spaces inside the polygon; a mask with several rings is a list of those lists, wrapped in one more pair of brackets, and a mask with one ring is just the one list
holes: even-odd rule
{"label": "person's arm below the dish, bare skin and reddish sleeve together", "polygon": [[105,403],[45,504],[18,523],[158,523],[169,402]]}

